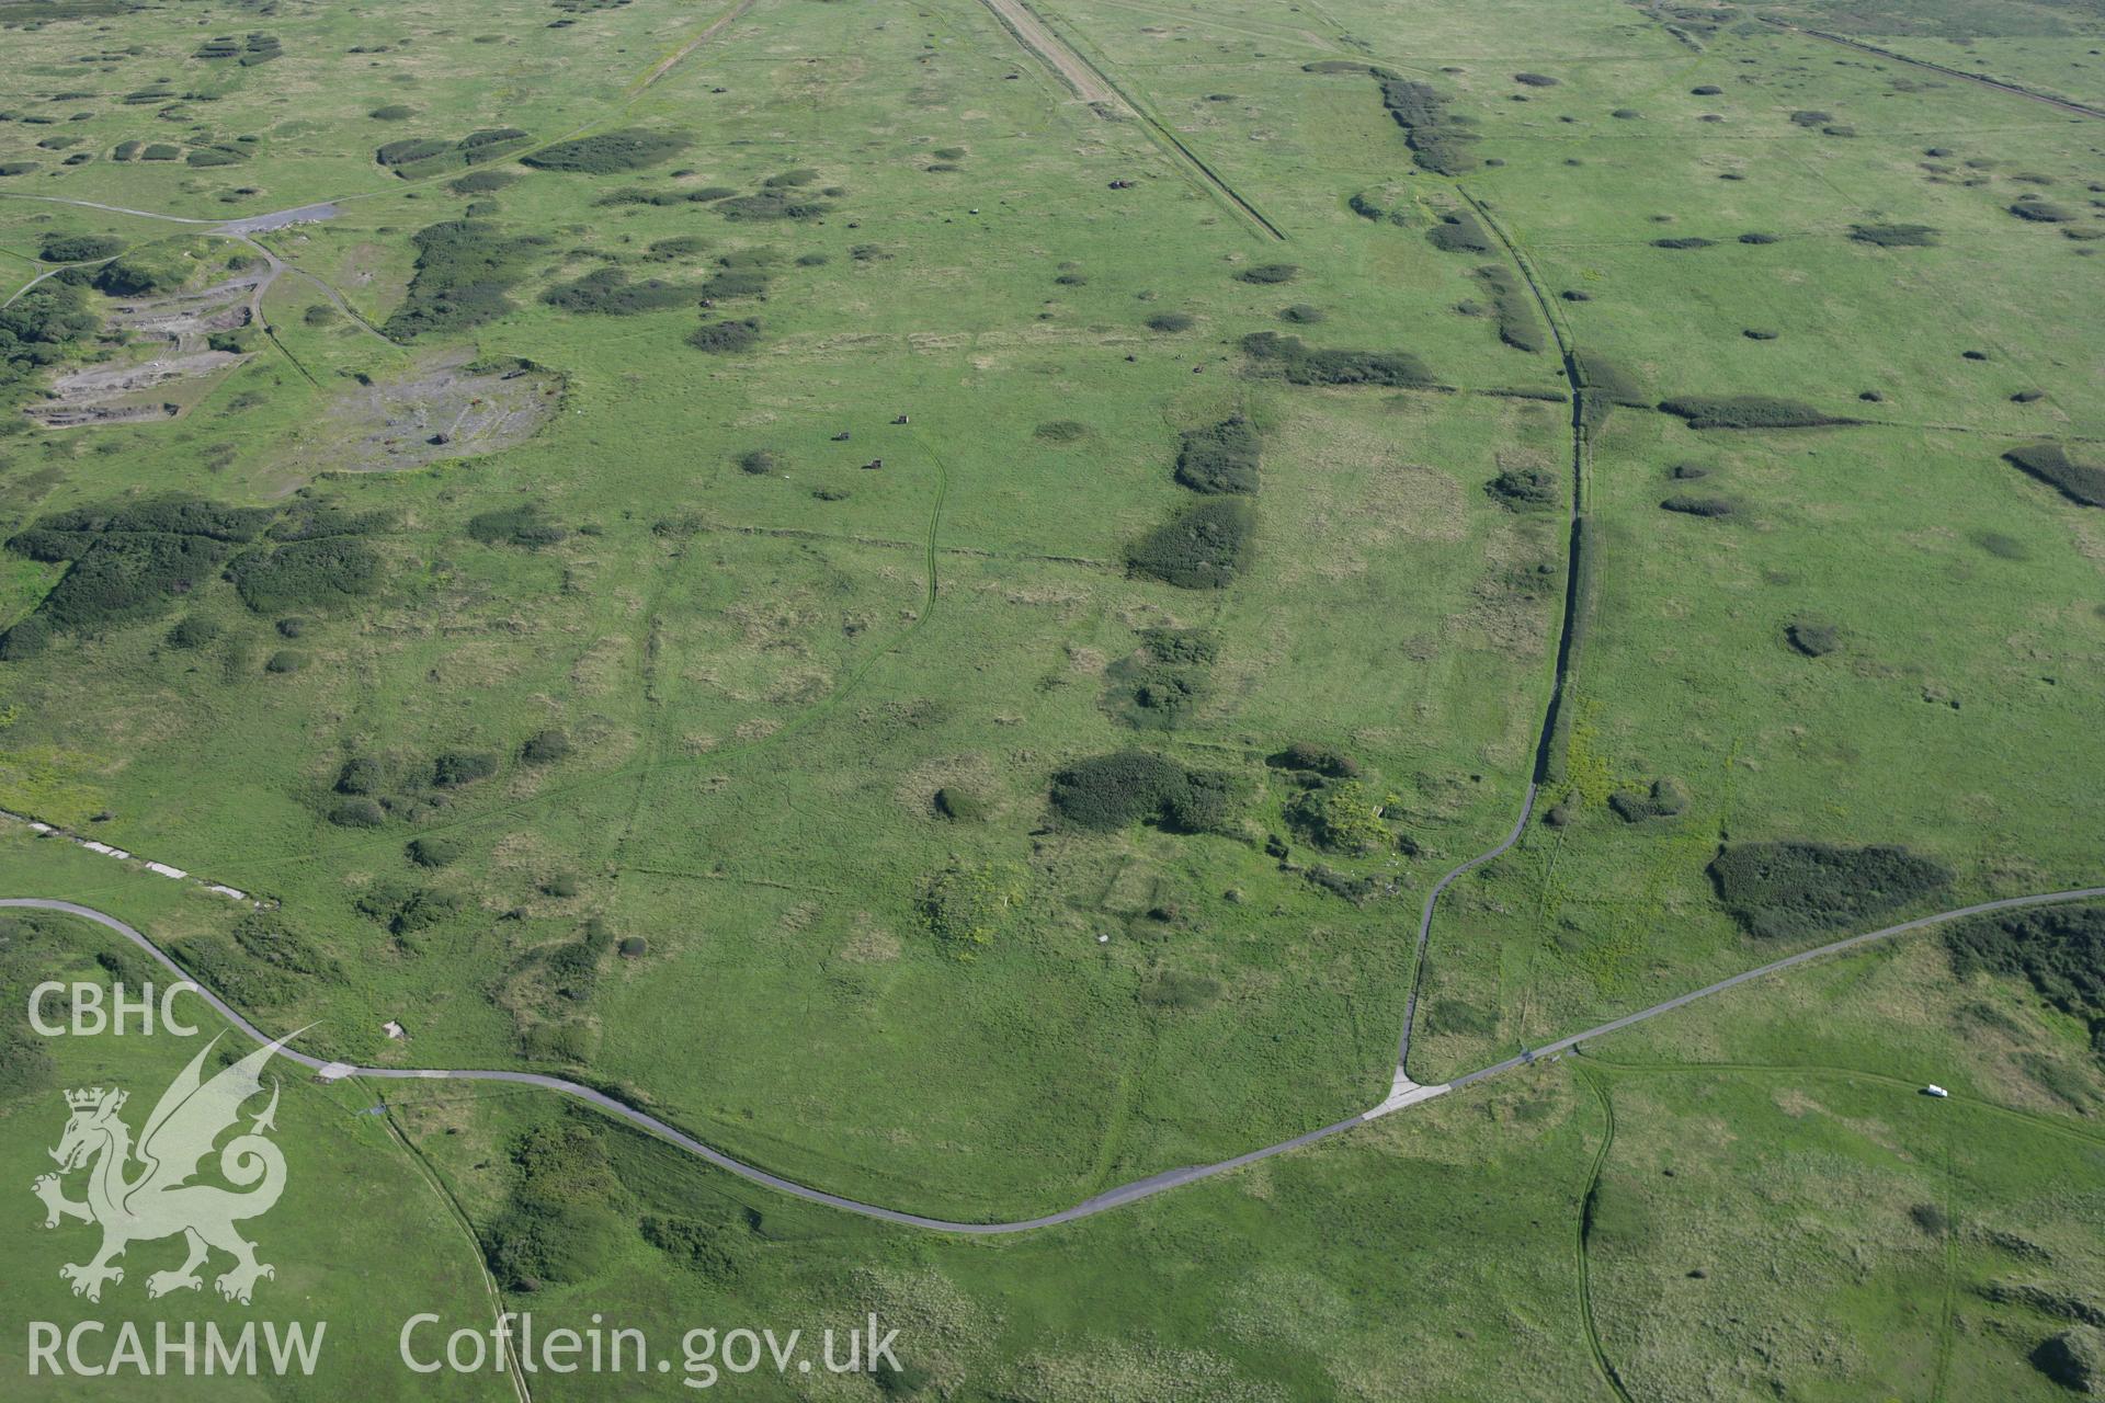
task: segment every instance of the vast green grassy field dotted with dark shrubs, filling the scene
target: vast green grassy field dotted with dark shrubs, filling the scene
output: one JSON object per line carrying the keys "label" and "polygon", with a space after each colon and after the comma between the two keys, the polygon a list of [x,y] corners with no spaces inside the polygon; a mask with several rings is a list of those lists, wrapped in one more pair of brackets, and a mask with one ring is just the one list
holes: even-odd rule
{"label": "vast green grassy field dotted with dark shrubs, filling the scene", "polygon": [[[1372,1106],[1417,976],[1434,1081],[2099,881],[2097,122],[1762,23],[2097,101],[2094,17],[1031,8],[1103,103],[977,0],[0,2],[0,297],[122,242],[0,313],[0,808],[265,909],[15,822],[0,894],[137,923],[316,1054],[570,1075],[800,1182],[1000,1220]],[[1467,168],[1412,160],[1383,80],[1434,88]],[[13,408],[152,364],[166,341],[107,328],[227,278],[267,278],[269,334],[215,326],[238,355],[141,389],[149,416]],[[48,305],[103,337],[36,341]],[[1703,395],[1846,423],[1652,408]],[[1255,492],[1181,486],[1185,435],[1231,421]],[[2092,477],[2004,459],[2031,444]],[[141,526],[173,496],[225,515]],[[1225,587],[1141,560],[1198,507],[1250,524]],[[1124,751],[1210,808],[1055,801]],[[1421,900],[1535,778],[1412,970]],[[1732,843],[1937,879],[1749,934]],[[36,926],[25,968],[99,949]],[[2048,1388],[2052,1331],[1974,1292],[2017,1270],[1981,1233],[2105,1289],[2076,1186],[2105,1008],[1960,987],[1934,936],[1699,1008],[1002,1243],[535,1096],[402,1098],[316,1155],[408,1176],[387,1226],[472,1315],[467,1233],[385,1127],[486,1252],[520,1136],[585,1134],[592,1270],[509,1304],[884,1302],[939,1397]],[[53,1075],[118,1077],[93,1056]],[[299,1100],[320,1134],[358,1092]],[[667,1273],[653,1214],[737,1268]],[[1528,1361],[1505,1392],[1499,1359]],[[783,1384],[855,1397],[825,1386]]]}

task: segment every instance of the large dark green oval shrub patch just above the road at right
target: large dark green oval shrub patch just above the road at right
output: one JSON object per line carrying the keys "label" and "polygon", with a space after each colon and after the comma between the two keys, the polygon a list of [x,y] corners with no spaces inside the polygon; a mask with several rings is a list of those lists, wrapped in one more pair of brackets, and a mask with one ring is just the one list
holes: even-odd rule
{"label": "large dark green oval shrub patch just above the road at right", "polygon": [[1905,848],[1726,843],[1709,865],[1718,900],[1751,936],[1808,936],[1907,907],[1951,881]]}

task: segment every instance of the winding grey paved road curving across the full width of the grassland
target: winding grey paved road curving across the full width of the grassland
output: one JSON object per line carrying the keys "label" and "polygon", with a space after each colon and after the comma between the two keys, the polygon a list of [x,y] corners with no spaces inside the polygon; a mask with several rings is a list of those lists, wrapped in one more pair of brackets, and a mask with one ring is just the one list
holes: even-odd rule
{"label": "winding grey paved road curving across the full width of the grassland", "polygon": [[[1530,797],[1530,801],[1532,801],[1532,797]],[[1522,818],[1522,822],[1526,822],[1526,818]],[[1484,858],[1495,856],[1495,852],[1503,852],[1507,846],[1511,846],[1511,839],[1507,839],[1505,846],[1501,846],[1501,848],[1497,848],[1492,852],[1486,852],[1482,858],[1476,858],[1476,862],[1482,862]],[[1461,869],[1457,869],[1455,873],[1450,873],[1450,877],[1459,875],[1461,871],[1467,871],[1476,862],[1463,865]],[[1636,1014],[1627,1014],[1623,1018],[1615,1018],[1610,1022],[1600,1024],[1598,1029],[1587,1029],[1585,1033],[1575,1033],[1570,1037],[1564,1037],[1564,1039],[1558,1039],[1558,1041],[1547,1043],[1543,1048],[1537,1048],[1532,1052],[1526,1052],[1526,1054],[1522,1054],[1518,1058],[1507,1058],[1507,1060],[1497,1062],[1492,1066],[1478,1069],[1474,1073],[1457,1077],[1446,1087],[1425,1087],[1425,1092],[1438,1094],[1438,1092],[1444,1092],[1444,1090],[1459,1090],[1463,1085],[1469,1085],[1471,1081],[1482,1081],[1484,1077],[1497,1077],[1499,1073],[1507,1073],[1507,1071],[1513,1071],[1518,1066],[1526,1066],[1535,1058],[1541,1058],[1541,1056],[1547,1056],[1547,1054],[1553,1054],[1553,1052],[1562,1052],[1566,1048],[1572,1048],[1575,1043],[1581,1043],[1581,1041],[1587,1041],[1587,1039],[1593,1039],[1593,1037],[1606,1037],[1608,1033],[1615,1033],[1619,1029],[1627,1029],[1627,1026],[1631,1026],[1636,1022],[1644,1022],[1646,1018],[1657,1018],[1659,1014],[1673,1012],[1673,1010],[1678,1010],[1678,1008],[1682,1008],[1686,1003],[1695,1003],[1697,999],[1707,999],[1709,995],[1722,993],[1726,989],[1732,989],[1735,984],[1745,984],[1747,980],[1756,980],[1756,978],[1762,978],[1766,974],[1775,974],[1779,970],[1789,970],[1791,965],[1802,965],[1802,963],[1806,963],[1810,959],[1821,959],[1825,955],[1836,955],[1836,953],[1842,953],[1842,951],[1852,951],[1852,949],[1857,949],[1861,944],[1869,944],[1873,940],[1886,940],[1890,936],[1901,936],[1901,934],[1907,934],[1907,932],[1913,932],[1913,930],[1926,930],[1930,926],[1939,926],[1939,923],[1945,923],[1945,921],[1960,921],[1960,919],[1966,919],[1966,917],[1972,917],[1972,915],[1987,915],[1991,911],[2014,911],[2019,907],[2044,907],[2044,904],[2052,904],[2052,902],[2099,900],[2099,898],[2105,898],[2105,888],[2080,888],[2080,890],[2073,890],[2073,892],[2044,892],[2044,894],[2038,894],[2038,896],[2010,896],[2010,898],[2004,898],[2004,900],[1979,902],[1974,907],[1960,907],[1958,911],[1941,911],[1937,915],[1926,915],[1926,917],[1920,917],[1916,921],[1903,921],[1901,926],[1888,926],[1884,930],[1873,930],[1873,932],[1863,934],[1863,936],[1848,936],[1846,940],[1836,940],[1836,942],[1823,944],[1819,949],[1810,949],[1810,951],[1802,951],[1798,955],[1789,955],[1787,959],[1777,959],[1772,963],[1762,965],[1760,970],[1747,970],[1745,974],[1735,974],[1728,980],[1718,980],[1716,984],[1709,984],[1705,989],[1697,989],[1695,993],[1684,993],[1680,997],[1667,999],[1665,1003],[1655,1003],[1652,1008],[1640,1010]],[[189,976],[187,970],[183,970],[179,963],[175,963],[175,959],[171,959],[158,944],[154,944],[152,940],[147,940],[137,928],[120,921],[114,915],[97,911],[93,907],[82,907],[82,904],[69,902],[69,900],[51,900],[51,898],[44,898],[44,896],[8,896],[8,898],[0,898],[0,907],[32,907],[32,909],[38,909],[38,911],[63,911],[65,915],[78,915],[78,917],[82,917],[86,921],[95,921],[97,926],[105,926],[105,928],[114,930],[116,934],[124,936],[126,940],[131,940],[133,944],[137,944],[149,959],[154,959],[158,965],[162,965],[164,970],[168,970],[177,978],[183,978],[183,980],[189,980],[189,982],[196,984],[196,980]],[[255,1026],[253,1022],[248,1022],[248,1018],[244,1018],[236,1008],[232,1008],[225,999],[221,999],[210,989],[204,989],[200,984],[198,987],[198,995],[206,1003],[210,1003],[227,1022],[232,1022],[236,1029],[240,1029],[242,1033],[246,1033],[255,1041],[259,1041],[259,1043],[274,1041],[267,1033],[263,1033],[259,1026]],[[823,1188],[813,1188],[810,1184],[798,1184],[796,1180],[787,1180],[787,1178],[783,1178],[779,1174],[768,1174],[766,1170],[758,1170],[758,1167],[754,1167],[749,1163],[741,1163],[741,1161],[733,1159],[730,1155],[724,1155],[722,1151],[703,1144],[695,1136],[690,1136],[684,1130],[678,1130],[674,1125],[667,1125],[665,1121],[661,1121],[659,1117],[650,1115],[648,1111],[638,1111],[636,1106],[632,1106],[632,1104],[627,1104],[623,1100],[617,1100],[617,1098],[608,1096],[606,1092],[598,1092],[598,1090],[594,1090],[589,1085],[579,1085],[577,1081],[566,1081],[562,1077],[547,1077],[547,1075],[541,1075],[541,1073],[478,1071],[478,1069],[343,1066],[341,1062],[324,1062],[322,1058],[309,1056],[305,1052],[293,1052],[290,1048],[282,1050],[280,1056],[290,1058],[293,1062],[299,1062],[301,1066],[309,1066],[314,1071],[322,1071],[324,1066],[330,1066],[330,1069],[339,1071],[341,1075],[375,1077],[375,1079],[385,1079],[385,1081],[507,1081],[507,1083],[514,1083],[514,1085],[537,1085],[537,1087],[543,1087],[543,1090],[549,1090],[549,1092],[560,1092],[564,1096],[575,1096],[577,1100],[583,1100],[583,1102],[592,1102],[600,1111],[606,1111],[608,1115],[621,1117],[623,1121],[629,1121],[632,1125],[636,1125],[636,1127],[640,1127],[640,1130],[644,1130],[644,1132],[648,1132],[653,1136],[659,1136],[661,1140],[669,1140],[669,1142],[678,1144],[680,1148],[688,1151],[690,1155],[707,1159],[711,1165],[716,1165],[720,1170],[728,1170],[730,1174],[737,1174],[739,1178],[747,1178],[747,1180],[751,1180],[756,1184],[764,1184],[768,1188],[775,1188],[779,1193],[787,1193],[787,1195],[804,1199],[808,1203],[825,1203],[827,1207],[838,1207],[838,1209],[848,1212],[848,1214],[861,1214],[863,1218],[878,1218],[882,1222],[899,1222],[899,1224],[914,1226],[914,1228],[933,1228],[937,1233],[970,1233],[970,1235],[1027,1233],[1031,1228],[1048,1228],[1048,1226],[1055,1226],[1055,1224],[1061,1224],[1061,1222],[1074,1222],[1078,1218],[1092,1218],[1092,1216],[1097,1216],[1097,1214],[1101,1214],[1105,1209],[1118,1207],[1122,1203],[1135,1203],[1139,1199],[1147,1199],[1147,1197],[1154,1197],[1158,1193],[1166,1193],[1170,1188],[1179,1188],[1183,1184],[1196,1184],[1200,1180],[1212,1178],[1215,1174],[1227,1174],[1229,1170],[1240,1170],[1242,1165],[1257,1163],[1259,1159],[1269,1159],[1274,1155],[1284,1155],[1286,1151],[1297,1151],[1303,1144],[1314,1144],[1318,1140],[1328,1140],[1335,1134],[1347,1132],[1347,1130],[1351,1130],[1356,1125],[1364,1125],[1364,1123],[1368,1123],[1368,1121],[1372,1121],[1372,1119],[1377,1119],[1377,1117],[1381,1117],[1381,1115],[1387,1113],[1387,1106],[1375,1106],[1372,1111],[1366,1111],[1362,1115],[1354,1115],[1349,1119],[1335,1121],[1330,1125],[1322,1125],[1322,1127],[1311,1130],[1307,1134],[1295,1136],[1292,1140],[1280,1140],[1278,1144],[1267,1144],[1267,1146],[1250,1151],[1246,1155],[1236,1155],[1234,1159],[1221,1159],[1221,1161],[1215,1161],[1215,1163],[1208,1163],[1208,1165],[1185,1165],[1181,1170],[1164,1170],[1162,1174],[1154,1174],[1149,1178],[1141,1178],[1141,1180],[1135,1180],[1130,1184],[1120,1184],[1116,1188],[1107,1188],[1107,1191],[1099,1193],[1092,1199],[1084,1199],[1082,1203],[1076,1203],[1074,1207],[1063,1207],[1063,1209],[1059,1209],[1055,1214],[1044,1214],[1040,1218],[1021,1218],[1021,1220],[1015,1220],[1015,1222],[954,1222],[949,1218],[924,1218],[922,1214],[903,1214],[903,1212],[899,1212],[895,1207],[882,1207],[878,1203],[861,1203],[859,1199],[846,1199],[846,1197],[842,1197],[838,1193],[825,1193]]]}

